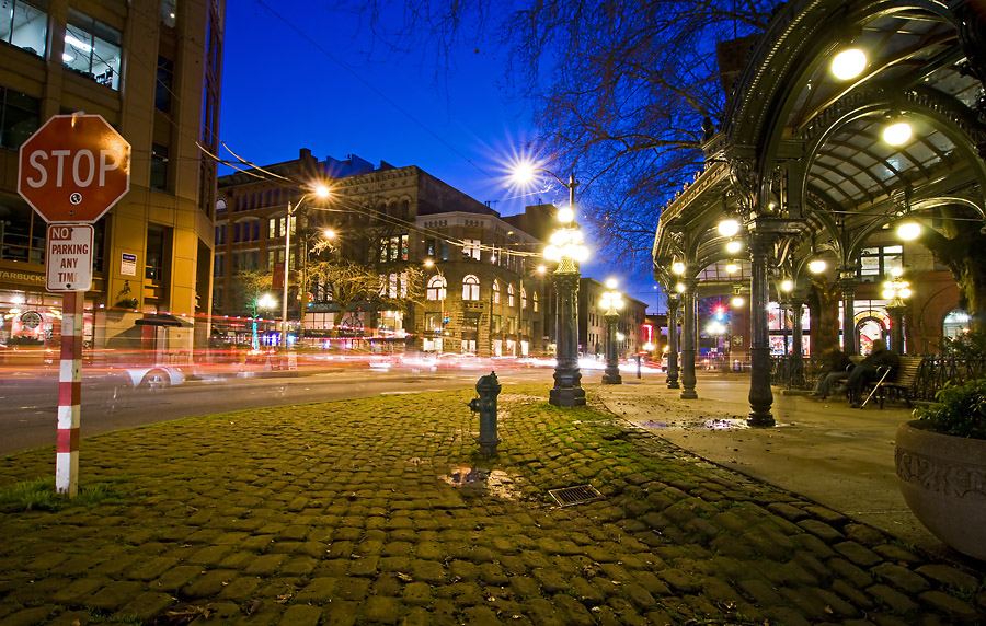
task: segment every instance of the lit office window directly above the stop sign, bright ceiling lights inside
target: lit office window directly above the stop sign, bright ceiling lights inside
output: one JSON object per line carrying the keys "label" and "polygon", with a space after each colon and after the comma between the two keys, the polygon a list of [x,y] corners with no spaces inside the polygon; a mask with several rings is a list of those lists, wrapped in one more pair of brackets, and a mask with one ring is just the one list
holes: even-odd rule
{"label": "lit office window directly above the stop sign, bright ceiling lights inside", "polygon": [[119,31],[69,8],[65,26],[65,67],[114,90],[119,89]]}

